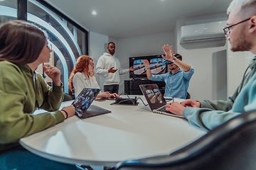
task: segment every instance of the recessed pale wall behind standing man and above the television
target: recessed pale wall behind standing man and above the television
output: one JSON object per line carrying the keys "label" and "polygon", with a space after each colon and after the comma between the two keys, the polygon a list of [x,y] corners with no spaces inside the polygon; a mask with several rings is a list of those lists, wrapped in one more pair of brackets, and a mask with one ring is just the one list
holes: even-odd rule
{"label": "recessed pale wall behind standing man and above the television", "polygon": [[[173,32],[119,39],[90,32],[89,55],[95,64],[100,56],[107,52],[107,43],[110,41],[116,45],[115,56],[119,59],[122,69],[129,68],[129,57],[164,54],[163,45],[174,44]],[[95,74],[95,77],[103,91],[102,77],[99,74]],[[124,93],[124,80],[126,79],[129,79],[129,72],[120,75],[119,94]]]}

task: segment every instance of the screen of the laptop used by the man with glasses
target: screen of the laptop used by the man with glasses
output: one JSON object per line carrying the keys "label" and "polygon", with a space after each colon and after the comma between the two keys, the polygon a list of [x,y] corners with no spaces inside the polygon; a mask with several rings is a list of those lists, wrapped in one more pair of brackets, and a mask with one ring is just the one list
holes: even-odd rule
{"label": "screen of the laptop used by the man with glasses", "polygon": [[164,96],[161,94],[157,84],[141,84],[139,87],[142,89],[151,111],[166,105]]}

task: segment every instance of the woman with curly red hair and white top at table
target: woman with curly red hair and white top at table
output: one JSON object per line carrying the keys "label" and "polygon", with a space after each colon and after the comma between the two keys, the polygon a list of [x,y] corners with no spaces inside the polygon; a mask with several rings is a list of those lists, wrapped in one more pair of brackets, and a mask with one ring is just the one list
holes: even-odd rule
{"label": "woman with curly red hair and white top at table", "polygon": [[[77,97],[85,87],[100,89],[100,86],[97,84],[96,78],[94,77],[93,69],[94,62],[91,57],[82,55],[78,58],[75,68],[68,79],[68,89],[70,89],[70,91],[75,91],[75,97]],[[110,92],[105,91],[98,94],[97,98],[114,98],[116,96],[118,96],[116,93],[110,94]]]}

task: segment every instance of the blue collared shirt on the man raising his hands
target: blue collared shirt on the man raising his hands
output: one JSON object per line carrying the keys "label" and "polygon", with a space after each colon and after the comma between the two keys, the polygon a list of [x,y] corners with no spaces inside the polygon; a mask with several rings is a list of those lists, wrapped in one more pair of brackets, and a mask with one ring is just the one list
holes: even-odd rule
{"label": "blue collared shirt on the man raising his hands", "polygon": [[152,74],[150,80],[165,81],[166,86],[164,96],[186,99],[189,81],[193,73],[194,69],[191,66],[191,69],[188,72],[179,69],[178,72],[175,72],[174,74],[171,74],[171,72]]}

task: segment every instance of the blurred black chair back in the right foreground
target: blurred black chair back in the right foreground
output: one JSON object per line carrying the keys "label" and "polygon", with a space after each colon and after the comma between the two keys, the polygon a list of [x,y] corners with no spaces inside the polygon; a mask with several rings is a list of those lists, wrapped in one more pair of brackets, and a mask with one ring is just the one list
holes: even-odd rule
{"label": "blurred black chair back in the right foreground", "polygon": [[121,162],[112,169],[256,169],[256,111],[238,115],[170,155]]}

